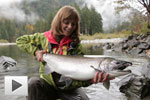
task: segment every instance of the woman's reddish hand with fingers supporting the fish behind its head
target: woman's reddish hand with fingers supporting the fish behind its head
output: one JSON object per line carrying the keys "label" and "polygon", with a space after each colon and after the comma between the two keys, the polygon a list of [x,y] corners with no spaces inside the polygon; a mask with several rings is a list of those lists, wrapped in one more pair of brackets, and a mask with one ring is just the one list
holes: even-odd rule
{"label": "woman's reddish hand with fingers supporting the fish behind its head", "polygon": [[109,74],[104,72],[96,72],[95,77],[92,80],[92,83],[106,82],[113,80],[114,78],[109,78]]}

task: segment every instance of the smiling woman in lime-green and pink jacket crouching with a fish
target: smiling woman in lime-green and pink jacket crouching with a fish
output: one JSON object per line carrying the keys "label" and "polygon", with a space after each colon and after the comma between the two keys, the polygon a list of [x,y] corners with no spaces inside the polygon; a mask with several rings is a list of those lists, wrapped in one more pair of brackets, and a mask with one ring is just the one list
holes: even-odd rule
{"label": "smiling woman in lime-green and pink jacket crouching with a fish", "polygon": [[[24,35],[16,40],[18,47],[34,56],[40,62],[40,78],[32,77],[29,80],[28,100],[89,100],[80,87],[86,87],[93,83],[92,80],[71,80],[59,82],[58,73],[44,74],[45,62],[42,55],[52,53],[59,55],[83,55],[79,41],[80,17],[74,7],[64,6],[54,17],[51,29],[43,33]],[[65,62],[64,62],[65,63]],[[71,66],[70,66],[71,67]],[[99,74],[99,73],[98,73]],[[102,81],[101,75],[96,75],[97,80]],[[108,80],[107,76],[103,81]]]}

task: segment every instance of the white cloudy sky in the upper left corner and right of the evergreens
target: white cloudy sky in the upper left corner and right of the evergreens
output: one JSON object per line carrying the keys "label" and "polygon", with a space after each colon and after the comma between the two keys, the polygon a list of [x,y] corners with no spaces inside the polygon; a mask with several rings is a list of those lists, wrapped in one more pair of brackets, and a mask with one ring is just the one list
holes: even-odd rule
{"label": "white cloudy sky in the upper left corner and right of the evergreens", "polygon": [[[31,23],[38,19],[35,13],[31,15],[26,15],[21,9],[16,6],[11,6],[13,3],[19,3],[23,0],[0,0],[0,16],[9,19],[17,19],[18,21],[24,21],[28,19]],[[114,7],[114,0],[84,0],[85,3],[90,7],[93,5],[97,12],[99,12],[103,19],[103,28],[107,30],[110,27],[115,27],[118,23],[124,20],[128,20],[126,15],[129,14],[128,11],[124,11],[121,15],[116,15]],[[135,6],[135,5],[133,5]]]}

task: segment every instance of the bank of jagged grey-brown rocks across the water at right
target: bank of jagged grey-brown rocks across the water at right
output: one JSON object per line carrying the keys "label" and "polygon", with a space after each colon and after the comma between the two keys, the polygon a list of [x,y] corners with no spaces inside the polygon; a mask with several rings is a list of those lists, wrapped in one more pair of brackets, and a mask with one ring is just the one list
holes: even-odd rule
{"label": "bank of jagged grey-brown rocks across the water at right", "polygon": [[103,48],[126,52],[131,55],[150,57],[150,33],[132,34],[117,44],[105,43]]}

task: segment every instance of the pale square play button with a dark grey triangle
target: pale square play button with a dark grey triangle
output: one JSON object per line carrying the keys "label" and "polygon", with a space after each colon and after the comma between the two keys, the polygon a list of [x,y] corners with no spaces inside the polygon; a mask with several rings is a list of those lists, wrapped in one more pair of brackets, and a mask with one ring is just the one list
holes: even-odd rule
{"label": "pale square play button with a dark grey triangle", "polygon": [[5,95],[28,95],[27,76],[5,76]]}

